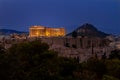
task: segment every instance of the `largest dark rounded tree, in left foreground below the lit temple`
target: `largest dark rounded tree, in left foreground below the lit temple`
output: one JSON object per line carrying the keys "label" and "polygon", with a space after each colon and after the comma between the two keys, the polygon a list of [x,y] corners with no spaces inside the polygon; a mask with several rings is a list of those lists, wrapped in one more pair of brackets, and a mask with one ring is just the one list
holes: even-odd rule
{"label": "largest dark rounded tree, in left foreground below the lit temple", "polygon": [[[37,76],[36,73],[38,75],[42,74],[42,71],[44,71],[42,68],[50,67],[47,64],[48,61],[57,56],[56,52],[49,50],[48,44],[40,41],[15,44],[8,49],[7,53],[12,80],[34,80],[33,78]],[[45,65],[43,66],[43,64]],[[48,73],[48,71],[45,73]],[[47,76],[45,73],[43,74],[45,75],[44,78]],[[36,77],[36,79],[39,78]]]}

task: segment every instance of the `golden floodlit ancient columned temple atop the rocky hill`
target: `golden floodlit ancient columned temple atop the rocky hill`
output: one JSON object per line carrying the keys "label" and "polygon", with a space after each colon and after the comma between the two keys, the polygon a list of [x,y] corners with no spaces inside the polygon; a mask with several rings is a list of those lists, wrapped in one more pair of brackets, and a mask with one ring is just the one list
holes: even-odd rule
{"label": "golden floodlit ancient columned temple atop the rocky hill", "polygon": [[57,36],[65,36],[64,28],[50,28],[44,26],[31,26],[29,28],[29,36],[30,37],[57,37]]}

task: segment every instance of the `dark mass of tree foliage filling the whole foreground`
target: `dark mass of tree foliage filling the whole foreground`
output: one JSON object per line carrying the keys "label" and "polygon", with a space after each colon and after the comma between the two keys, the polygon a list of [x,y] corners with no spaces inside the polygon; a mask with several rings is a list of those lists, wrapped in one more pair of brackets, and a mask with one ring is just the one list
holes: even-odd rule
{"label": "dark mass of tree foliage filling the whole foreground", "polygon": [[110,59],[59,57],[41,41],[14,44],[8,50],[0,46],[1,80],[119,80],[120,60],[113,51]]}

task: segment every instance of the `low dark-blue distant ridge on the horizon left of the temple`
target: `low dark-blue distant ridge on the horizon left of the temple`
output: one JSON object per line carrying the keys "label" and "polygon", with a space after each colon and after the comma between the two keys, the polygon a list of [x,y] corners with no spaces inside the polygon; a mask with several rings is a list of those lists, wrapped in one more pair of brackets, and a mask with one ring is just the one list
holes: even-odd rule
{"label": "low dark-blue distant ridge on the horizon left of the temple", "polygon": [[23,32],[23,31],[16,31],[16,30],[12,30],[12,29],[0,29],[0,35],[10,35],[13,33],[17,33],[17,34],[28,34],[28,32]]}

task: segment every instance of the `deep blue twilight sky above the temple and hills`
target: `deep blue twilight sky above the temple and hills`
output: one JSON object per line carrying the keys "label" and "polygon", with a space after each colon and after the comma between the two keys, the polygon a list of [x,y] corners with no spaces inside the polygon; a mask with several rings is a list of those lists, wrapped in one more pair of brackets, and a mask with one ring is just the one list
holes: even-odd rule
{"label": "deep blue twilight sky above the temple and hills", "polygon": [[0,0],[0,28],[43,25],[71,32],[84,23],[120,34],[120,0]]}

